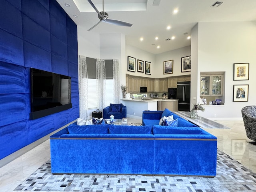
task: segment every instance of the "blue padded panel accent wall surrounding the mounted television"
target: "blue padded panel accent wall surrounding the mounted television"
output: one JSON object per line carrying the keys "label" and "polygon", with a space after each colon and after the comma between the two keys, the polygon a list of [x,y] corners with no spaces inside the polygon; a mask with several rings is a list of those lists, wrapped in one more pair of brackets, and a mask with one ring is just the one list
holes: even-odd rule
{"label": "blue padded panel accent wall surrounding the mounted television", "polygon": [[[79,117],[77,26],[56,0],[2,0],[0,159]],[[72,108],[30,120],[30,68],[71,77]]]}

